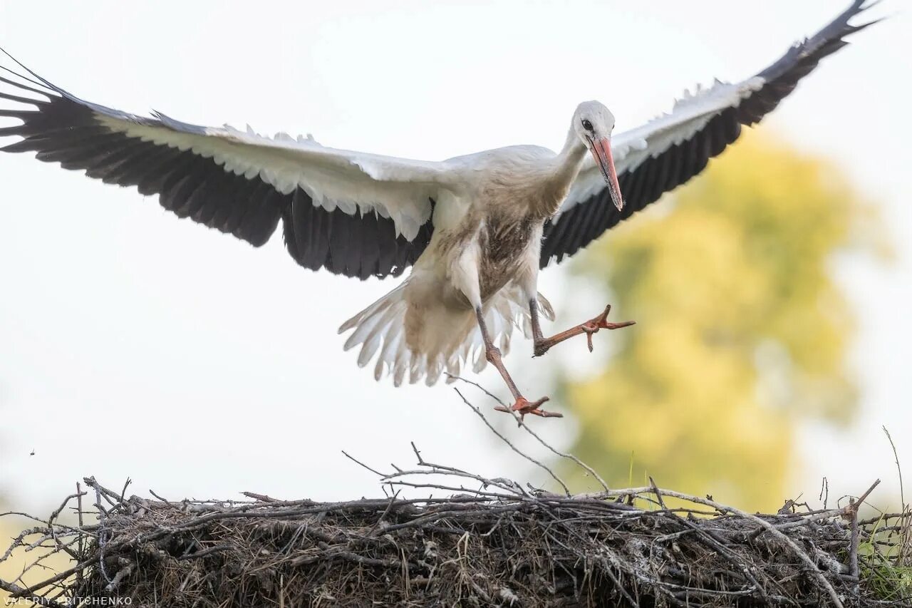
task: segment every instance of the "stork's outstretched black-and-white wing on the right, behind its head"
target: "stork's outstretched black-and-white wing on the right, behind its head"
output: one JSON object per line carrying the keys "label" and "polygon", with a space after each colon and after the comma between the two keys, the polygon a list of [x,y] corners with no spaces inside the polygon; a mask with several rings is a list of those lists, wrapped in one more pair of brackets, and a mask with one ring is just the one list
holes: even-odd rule
{"label": "stork's outstretched black-and-white wing on the right, behind its head", "polygon": [[617,181],[625,205],[617,211],[594,162],[573,183],[557,215],[544,226],[541,267],[585,247],[608,228],[700,173],[713,156],[738,139],[741,125],[760,121],[818,62],[845,47],[843,37],[876,22],[850,26],[870,5],[855,2],[814,37],[794,45],[756,76],[737,84],[716,82],[675,103],[671,113],[612,138]]}

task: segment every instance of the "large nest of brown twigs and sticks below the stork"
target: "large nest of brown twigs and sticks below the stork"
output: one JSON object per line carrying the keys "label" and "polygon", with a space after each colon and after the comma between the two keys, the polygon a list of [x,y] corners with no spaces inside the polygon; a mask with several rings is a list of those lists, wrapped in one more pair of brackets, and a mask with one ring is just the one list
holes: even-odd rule
{"label": "large nest of brown twigs and sticks below the stork", "polygon": [[14,542],[75,565],[6,591],[172,608],[907,605],[859,584],[857,542],[876,522],[858,502],[749,515],[656,487],[567,497],[504,479],[448,498],[171,502],[85,482],[97,523],[58,524],[60,508]]}

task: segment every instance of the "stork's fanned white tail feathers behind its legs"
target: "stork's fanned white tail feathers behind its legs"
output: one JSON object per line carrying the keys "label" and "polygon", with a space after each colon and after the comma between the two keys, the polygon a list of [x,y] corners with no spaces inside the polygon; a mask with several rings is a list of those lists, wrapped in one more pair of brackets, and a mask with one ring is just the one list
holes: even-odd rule
{"label": "stork's fanned white tail feathers behind its legs", "polygon": [[[339,328],[339,333],[354,330],[345,343],[345,350],[360,345],[358,366],[364,367],[377,355],[374,377],[379,380],[387,373],[396,386],[406,379],[409,383],[418,383],[422,378],[430,386],[444,371],[458,375],[463,364],[468,362],[472,362],[472,371],[481,372],[487,360],[482,332],[471,309],[452,310],[443,306],[421,309],[420,326],[424,330],[420,351],[409,348],[405,338],[405,316],[409,309],[407,285],[408,281]],[[540,314],[547,320],[554,320],[554,310],[541,294],[538,294],[538,303]],[[485,304],[484,320],[492,340],[499,343],[503,354],[510,351],[514,329],[522,331],[527,338],[532,335],[528,304],[522,291],[513,285],[501,289]]]}

